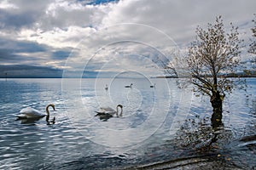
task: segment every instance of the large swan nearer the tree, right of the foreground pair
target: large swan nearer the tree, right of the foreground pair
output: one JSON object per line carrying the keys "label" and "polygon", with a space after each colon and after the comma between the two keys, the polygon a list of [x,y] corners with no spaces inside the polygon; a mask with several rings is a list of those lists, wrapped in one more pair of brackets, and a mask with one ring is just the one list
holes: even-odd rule
{"label": "large swan nearer the tree, right of the foreground pair", "polygon": [[[121,108],[121,112],[119,114],[119,108]],[[116,116],[123,116],[123,105],[117,105],[116,106],[116,111],[114,111],[111,107],[101,107],[100,111],[96,111],[96,116],[99,116],[100,119],[103,119],[107,121],[110,117],[113,117],[114,114]]]}

